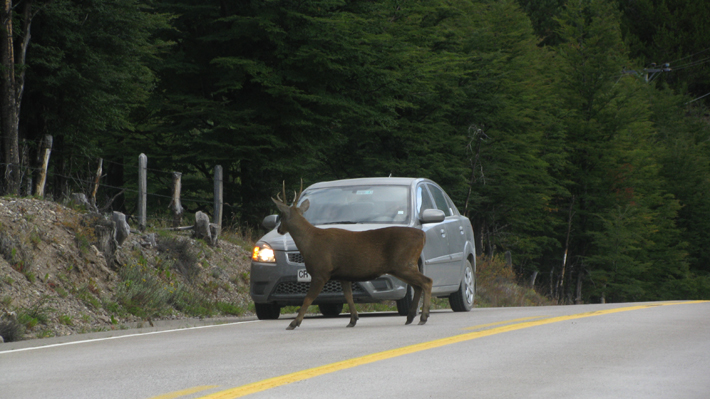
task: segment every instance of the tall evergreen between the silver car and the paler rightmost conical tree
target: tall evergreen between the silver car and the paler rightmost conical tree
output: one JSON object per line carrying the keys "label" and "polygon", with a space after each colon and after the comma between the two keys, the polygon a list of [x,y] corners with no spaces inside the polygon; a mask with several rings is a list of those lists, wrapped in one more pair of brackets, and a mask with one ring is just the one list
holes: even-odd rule
{"label": "tall evergreen between the silver car and the paler rightmost conical tree", "polygon": [[471,15],[467,48],[476,68],[469,71],[467,105],[487,136],[470,207],[479,251],[510,250],[521,271],[537,270],[542,253],[559,246],[553,199],[564,192],[551,175],[564,161],[551,85],[555,61],[536,46],[515,2],[483,3]]}

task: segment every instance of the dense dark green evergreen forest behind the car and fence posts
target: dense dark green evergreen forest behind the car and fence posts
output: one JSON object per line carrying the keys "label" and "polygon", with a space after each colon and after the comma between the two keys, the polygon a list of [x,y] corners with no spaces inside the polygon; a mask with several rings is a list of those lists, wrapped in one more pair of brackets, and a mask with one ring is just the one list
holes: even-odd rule
{"label": "dense dark green evergreen forest behind the car and fence posts", "polygon": [[[4,0],[2,195],[257,228],[283,181],[427,177],[561,303],[710,299],[710,2]],[[207,183],[206,183],[207,182]],[[707,226],[706,226],[707,224]]]}

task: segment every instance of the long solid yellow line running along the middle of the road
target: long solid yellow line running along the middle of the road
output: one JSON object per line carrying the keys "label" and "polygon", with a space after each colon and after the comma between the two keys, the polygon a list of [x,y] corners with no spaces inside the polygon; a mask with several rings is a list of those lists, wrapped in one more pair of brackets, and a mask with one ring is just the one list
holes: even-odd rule
{"label": "long solid yellow line running along the middle of the road", "polygon": [[[410,353],[420,352],[420,351],[424,351],[427,349],[439,348],[439,347],[442,347],[445,345],[451,345],[451,344],[455,344],[455,343],[459,343],[459,342],[470,341],[472,339],[487,337],[490,335],[500,334],[500,333],[504,333],[504,332],[522,330],[524,328],[557,323],[560,321],[582,319],[585,317],[601,316],[601,315],[605,315],[605,314],[612,314],[612,313],[619,313],[619,312],[628,312],[631,310],[647,309],[647,308],[658,307],[658,306],[694,304],[694,303],[703,303],[703,302],[708,302],[708,301],[659,302],[659,303],[648,304],[648,305],[637,305],[637,306],[629,306],[629,307],[623,307],[623,308],[597,310],[597,311],[592,311],[592,312],[573,314],[573,315],[569,315],[569,316],[550,317],[547,319],[529,321],[529,322],[525,322],[525,323],[510,324],[510,325],[506,325],[506,326],[502,326],[502,327],[492,328],[489,330],[454,335],[454,336],[448,337],[448,338],[441,338],[441,339],[437,339],[437,340],[433,340],[433,341],[422,342],[420,344],[414,344],[414,345],[405,346],[402,348],[387,350],[384,352],[373,353],[371,355],[365,355],[365,356],[357,357],[354,359],[343,360],[340,362],[326,364],[324,366],[313,367],[313,368],[310,368],[307,370],[297,371],[295,373],[286,374],[286,375],[282,375],[282,376],[274,377],[274,378],[269,378],[269,379],[262,380],[262,381],[257,381],[257,382],[251,383],[251,384],[242,385],[240,387],[231,388],[231,389],[227,389],[227,390],[220,391],[220,392],[215,392],[213,394],[203,396],[199,399],[240,398],[242,396],[246,396],[246,395],[249,395],[252,393],[257,393],[257,392],[265,391],[267,389],[276,388],[276,387],[279,387],[282,385],[287,385],[287,384],[290,384],[293,382],[303,381],[303,380],[307,380],[309,378],[318,377],[320,375],[329,374],[329,373],[333,373],[336,371],[361,366],[363,364],[373,363],[373,362],[377,362],[380,360],[391,359],[393,357],[398,357],[398,356],[407,355]],[[517,320],[521,320],[521,319],[517,319]],[[505,322],[503,322],[503,323],[505,323]],[[491,324],[495,324],[495,323],[491,323]],[[480,327],[481,326],[477,326],[474,328],[480,328]]]}

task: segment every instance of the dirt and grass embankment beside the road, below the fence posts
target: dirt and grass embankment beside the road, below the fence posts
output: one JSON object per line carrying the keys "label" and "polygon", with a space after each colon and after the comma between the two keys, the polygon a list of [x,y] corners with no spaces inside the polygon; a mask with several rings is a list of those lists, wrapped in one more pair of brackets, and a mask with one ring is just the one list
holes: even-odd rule
{"label": "dirt and grass embankment beside the road, below the fence posts", "polygon": [[97,226],[110,223],[54,202],[0,198],[6,341],[250,313],[247,249],[152,232],[133,233],[107,253]]}

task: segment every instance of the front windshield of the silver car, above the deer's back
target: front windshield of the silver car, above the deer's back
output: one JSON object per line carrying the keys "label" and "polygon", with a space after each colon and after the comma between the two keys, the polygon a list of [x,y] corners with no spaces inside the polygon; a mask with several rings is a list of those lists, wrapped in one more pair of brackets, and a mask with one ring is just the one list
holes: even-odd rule
{"label": "front windshield of the silver car, above the deer's back", "polygon": [[310,206],[303,216],[314,225],[409,222],[408,186],[316,188],[303,193],[306,199]]}

